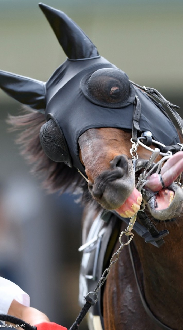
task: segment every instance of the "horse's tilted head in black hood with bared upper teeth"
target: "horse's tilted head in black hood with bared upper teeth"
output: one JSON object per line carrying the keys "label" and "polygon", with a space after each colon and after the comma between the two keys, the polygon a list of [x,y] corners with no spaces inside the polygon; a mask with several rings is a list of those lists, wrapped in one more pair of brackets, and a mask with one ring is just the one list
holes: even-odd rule
{"label": "horse's tilted head in black hood with bared upper teeth", "polygon": [[[171,146],[180,142],[178,133],[160,106],[126,73],[101,57],[75,22],[45,4],[41,3],[40,8],[67,55],[66,61],[46,83],[1,71],[0,87],[44,114],[46,122],[40,129],[40,142],[46,156],[87,176],[88,190],[103,208],[130,217],[142,201],[135,188],[131,138],[137,141],[141,133],[150,131],[153,139]],[[142,163],[150,155],[139,147]],[[182,210],[180,190],[173,192],[173,208],[169,207],[172,194],[159,194],[159,208],[154,198],[151,214],[160,220],[174,217],[178,207]],[[148,200],[149,197],[147,203]],[[164,209],[168,211],[162,212]]]}

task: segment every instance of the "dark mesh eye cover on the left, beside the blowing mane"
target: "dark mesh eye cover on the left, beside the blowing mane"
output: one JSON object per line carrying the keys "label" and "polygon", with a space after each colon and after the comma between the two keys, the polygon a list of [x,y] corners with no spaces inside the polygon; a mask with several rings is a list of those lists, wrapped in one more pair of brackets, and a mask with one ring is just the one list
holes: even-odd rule
{"label": "dark mesh eye cover on the left, beside the blowing mane", "polygon": [[46,155],[54,162],[72,167],[69,149],[60,126],[50,118],[40,129],[40,142]]}

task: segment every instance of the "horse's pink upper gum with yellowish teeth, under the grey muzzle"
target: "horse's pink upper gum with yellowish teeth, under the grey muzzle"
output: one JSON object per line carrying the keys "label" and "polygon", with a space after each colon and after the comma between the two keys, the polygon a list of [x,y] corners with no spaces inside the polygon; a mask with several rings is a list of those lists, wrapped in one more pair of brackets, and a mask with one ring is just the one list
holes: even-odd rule
{"label": "horse's pink upper gum with yellowish teeth, under the grey muzzle", "polygon": [[116,212],[118,212],[124,218],[131,218],[131,216],[135,215],[139,211],[141,201],[141,193],[136,188],[134,188],[131,195],[126,199],[123,205],[116,209]]}

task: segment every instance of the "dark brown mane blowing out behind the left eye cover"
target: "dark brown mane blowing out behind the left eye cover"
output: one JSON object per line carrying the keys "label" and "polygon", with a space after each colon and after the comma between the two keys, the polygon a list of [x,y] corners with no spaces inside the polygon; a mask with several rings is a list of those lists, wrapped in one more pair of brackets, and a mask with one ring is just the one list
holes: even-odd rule
{"label": "dark brown mane blowing out behind the left eye cover", "polygon": [[20,115],[9,115],[7,122],[12,126],[10,131],[19,131],[15,142],[20,145],[21,154],[32,165],[31,173],[42,179],[48,193],[59,191],[62,194],[69,191],[79,194],[79,201],[85,205],[93,202],[87,183],[76,168],[54,162],[43,151],[39,132],[46,122],[44,114],[23,107]]}

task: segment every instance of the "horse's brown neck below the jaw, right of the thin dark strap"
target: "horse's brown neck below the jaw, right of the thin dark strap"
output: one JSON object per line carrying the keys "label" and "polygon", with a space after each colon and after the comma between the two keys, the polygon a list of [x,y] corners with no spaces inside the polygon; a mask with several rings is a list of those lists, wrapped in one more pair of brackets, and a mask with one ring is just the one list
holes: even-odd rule
{"label": "horse's brown neck below the jaw, right of the thin dark strap", "polygon": [[157,223],[158,230],[168,229],[165,244],[156,248],[135,237],[146,301],[154,315],[172,329],[183,323],[183,217]]}

